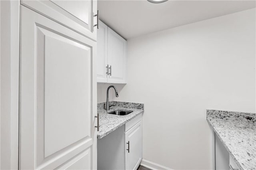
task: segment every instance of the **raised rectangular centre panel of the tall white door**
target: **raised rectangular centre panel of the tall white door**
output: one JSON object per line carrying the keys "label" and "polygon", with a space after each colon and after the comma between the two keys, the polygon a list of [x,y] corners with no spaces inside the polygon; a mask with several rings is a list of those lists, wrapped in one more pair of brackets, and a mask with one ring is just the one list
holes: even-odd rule
{"label": "raised rectangular centre panel of the tall white door", "polygon": [[50,33],[44,43],[45,156],[90,137],[91,119],[85,114],[90,113],[90,48]]}

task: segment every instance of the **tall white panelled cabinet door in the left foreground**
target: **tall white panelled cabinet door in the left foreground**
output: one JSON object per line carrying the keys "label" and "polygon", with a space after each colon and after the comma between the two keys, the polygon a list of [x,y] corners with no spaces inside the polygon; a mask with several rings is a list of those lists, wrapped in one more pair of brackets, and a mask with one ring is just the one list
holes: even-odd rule
{"label": "tall white panelled cabinet door in the left foreground", "polygon": [[20,169],[96,169],[96,42],[24,6],[20,29]]}

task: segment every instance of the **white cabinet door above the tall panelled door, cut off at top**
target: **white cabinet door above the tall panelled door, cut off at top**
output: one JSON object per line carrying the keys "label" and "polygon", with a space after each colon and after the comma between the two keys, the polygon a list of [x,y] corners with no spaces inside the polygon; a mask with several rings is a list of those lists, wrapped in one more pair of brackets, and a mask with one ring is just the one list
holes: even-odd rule
{"label": "white cabinet door above the tall panelled door, cut off at top", "polygon": [[97,38],[96,0],[22,0],[21,4],[83,36]]}

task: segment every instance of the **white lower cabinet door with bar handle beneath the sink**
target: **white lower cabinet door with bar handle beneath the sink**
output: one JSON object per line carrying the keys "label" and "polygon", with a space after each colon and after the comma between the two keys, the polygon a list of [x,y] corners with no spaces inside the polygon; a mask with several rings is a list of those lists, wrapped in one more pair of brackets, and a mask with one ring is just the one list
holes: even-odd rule
{"label": "white lower cabinet door with bar handle beneath the sink", "polygon": [[142,160],[142,121],[125,133],[125,169],[136,170]]}

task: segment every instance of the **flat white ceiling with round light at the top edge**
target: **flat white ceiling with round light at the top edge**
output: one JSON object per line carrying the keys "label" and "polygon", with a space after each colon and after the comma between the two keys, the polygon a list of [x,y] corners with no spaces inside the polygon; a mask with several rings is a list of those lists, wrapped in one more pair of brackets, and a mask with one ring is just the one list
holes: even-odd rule
{"label": "flat white ceiling with round light at the top edge", "polygon": [[255,8],[254,0],[98,0],[100,20],[125,39]]}

